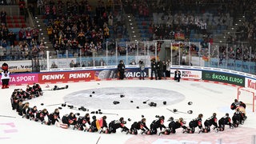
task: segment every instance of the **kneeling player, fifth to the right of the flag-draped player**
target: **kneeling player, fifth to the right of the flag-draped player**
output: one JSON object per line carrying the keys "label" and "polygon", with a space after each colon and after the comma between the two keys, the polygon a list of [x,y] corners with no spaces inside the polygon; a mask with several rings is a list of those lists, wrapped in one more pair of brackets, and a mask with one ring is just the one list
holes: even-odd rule
{"label": "kneeling player, fifth to the right of the flag-draped player", "polygon": [[190,129],[187,129],[183,132],[194,134],[194,130],[196,127],[200,129],[198,133],[202,132],[202,114],[198,114],[198,118],[194,118],[192,121],[190,121],[189,126]]}

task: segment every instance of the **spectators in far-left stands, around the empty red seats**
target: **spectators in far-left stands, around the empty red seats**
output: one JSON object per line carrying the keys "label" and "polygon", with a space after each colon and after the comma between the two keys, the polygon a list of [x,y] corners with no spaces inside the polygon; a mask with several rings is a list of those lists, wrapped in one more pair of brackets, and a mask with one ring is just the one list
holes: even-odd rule
{"label": "spectators in far-left stands, around the empty red seats", "polygon": [[[7,2],[6,4],[14,3]],[[24,10],[25,4],[25,1],[17,3],[21,9],[21,15],[24,15],[24,11],[26,11]],[[45,43],[43,39],[38,39],[39,30],[35,27],[21,27],[18,32],[14,32],[7,26],[7,16],[6,11],[2,9],[0,15],[0,61],[28,60],[38,54],[39,57],[42,57],[45,51]]]}

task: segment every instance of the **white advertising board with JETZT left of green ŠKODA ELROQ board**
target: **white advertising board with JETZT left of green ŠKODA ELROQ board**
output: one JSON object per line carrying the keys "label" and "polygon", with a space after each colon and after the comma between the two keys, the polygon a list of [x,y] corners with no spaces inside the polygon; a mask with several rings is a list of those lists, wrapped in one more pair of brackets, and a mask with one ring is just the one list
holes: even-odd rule
{"label": "white advertising board with JETZT left of green \u0160KODA ELROQ board", "polygon": [[[174,78],[174,71],[176,69],[170,69],[170,78]],[[182,78],[201,79],[202,71],[200,70],[179,70]]]}

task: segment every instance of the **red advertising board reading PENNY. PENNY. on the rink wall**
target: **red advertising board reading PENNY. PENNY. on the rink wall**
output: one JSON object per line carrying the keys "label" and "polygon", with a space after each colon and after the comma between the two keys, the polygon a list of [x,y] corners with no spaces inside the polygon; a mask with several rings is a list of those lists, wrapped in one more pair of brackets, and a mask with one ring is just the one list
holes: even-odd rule
{"label": "red advertising board reading PENNY. PENNY. on the rink wall", "polygon": [[93,70],[85,71],[59,71],[50,73],[39,73],[38,82],[67,82],[67,81],[89,81],[94,79]]}

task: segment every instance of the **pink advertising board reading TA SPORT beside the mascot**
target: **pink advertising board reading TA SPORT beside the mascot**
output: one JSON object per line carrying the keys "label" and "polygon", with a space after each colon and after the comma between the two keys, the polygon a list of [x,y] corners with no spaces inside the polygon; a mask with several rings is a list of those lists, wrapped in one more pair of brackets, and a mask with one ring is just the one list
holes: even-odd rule
{"label": "pink advertising board reading TA SPORT beside the mascot", "polygon": [[32,84],[34,82],[38,82],[38,74],[10,74],[10,85]]}

